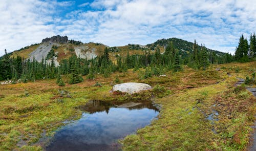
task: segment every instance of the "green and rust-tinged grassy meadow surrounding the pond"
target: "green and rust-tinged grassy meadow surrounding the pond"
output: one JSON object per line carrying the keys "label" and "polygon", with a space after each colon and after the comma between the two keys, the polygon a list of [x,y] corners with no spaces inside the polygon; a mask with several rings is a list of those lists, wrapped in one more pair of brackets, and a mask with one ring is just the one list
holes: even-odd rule
{"label": "green and rust-tinged grassy meadow surrounding the pond", "polygon": [[[0,85],[0,150],[41,150],[44,144],[37,142],[42,134],[51,137],[64,121],[78,119],[82,112],[76,107],[90,99],[125,101],[147,96],[113,96],[109,92],[116,76],[122,82],[155,87],[147,93],[168,92],[155,94],[156,103],[162,106],[158,120],[120,140],[123,150],[244,150],[252,131],[255,100],[244,87],[237,90],[233,85],[236,77],[245,78],[253,67],[256,62],[212,65],[206,71],[184,67],[182,72],[168,71],[166,77],[147,79],[129,70],[108,78],[96,75],[95,80],[73,85],[64,76],[65,87],[58,87],[55,79]],[[101,87],[94,86],[96,82]],[[71,97],[61,97],[61,90]],[[206,119],[213,111],[219,113],[218,121]]]}

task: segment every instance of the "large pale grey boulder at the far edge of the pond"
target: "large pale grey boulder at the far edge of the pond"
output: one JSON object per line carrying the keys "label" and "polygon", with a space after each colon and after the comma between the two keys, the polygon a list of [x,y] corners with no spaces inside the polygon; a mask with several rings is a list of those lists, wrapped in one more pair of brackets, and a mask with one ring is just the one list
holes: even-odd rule
{"label": "large pale grey boulder at the far edge of the pond", "polygon": [[136,82],[127,82],[127,83],[121,83],[116,84],[113,86],[112,91],[120,91],[124,93],[138,93],[143,90],[150,90],[152,87],[145,83],[136,83]]}

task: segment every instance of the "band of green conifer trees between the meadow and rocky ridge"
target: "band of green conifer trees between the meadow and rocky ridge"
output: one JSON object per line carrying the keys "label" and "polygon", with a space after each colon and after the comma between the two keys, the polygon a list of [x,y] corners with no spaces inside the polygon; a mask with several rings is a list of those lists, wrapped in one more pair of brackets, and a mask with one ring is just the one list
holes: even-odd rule
{"label": "band of green conifer trees between the meadow and rocky ridge", "polygon": [[[255,34],[251,36],[251,39],[253,38],[255,38]],[[247,46],[244,46],[246,39],[243,37],[240,39],[242,46],[239,46],[237,50],[240,50],[240,47],[243,47],[241,50],[247,49]],[[255,45],[248,47],[248,49],[253,52],[248,53],[248,56],[249,54],[254,56]],[[163,74],[164,71],[168,70],[181,71],[184,65],[193,69],[206,70],[210,63],[228,63],[234,61],[234,58],[241,58],[241,56],[237,56],[237,52],[235,57],[229,53],[216,54],[203,45],[199,46],[196,40],[191,53],[176,49],[173,42],[170,41],[163,53],[160,52],[159,47],[156,47],[154,51],[144,50],[143,55],[130,55],[128,49],[126,55],[117,54],[115,56],[115,63],[110,59],[110,51],[112,52],[110,48],[105,48],[101,56],[89,60],[73,55],[68,59],[61,60],[59,66],[55,67],[54,55],[47,56],[47,58],[42,57],[41,61],[36,61],[20,56],[10,57],[11,54],[7,54],[5,50],[5,55],[0,57],[0,80],[12,79],[12,82],[16,83],[56,78],[57,84],[63,86],[65,83],[61,79],[61,75],[70,75],[69,83],[74,84],[83,81],[82,76],[87,76],[87,79],[94,79],[96,74],[109,77],[111,73],[116,71],[126,72],[128,69],[136,71],[144,68],[142,78],[147,78]],[[245,51],[241,54],[244,56]],[[49,59],[51,59],[51,63],[47,63],[46,60]]]}

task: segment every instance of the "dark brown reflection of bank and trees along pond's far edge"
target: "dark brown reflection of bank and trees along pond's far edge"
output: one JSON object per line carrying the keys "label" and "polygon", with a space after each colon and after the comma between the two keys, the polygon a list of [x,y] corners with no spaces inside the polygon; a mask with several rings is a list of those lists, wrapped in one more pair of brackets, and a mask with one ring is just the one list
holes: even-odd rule
{"label": "dark brown reflection of bank and trees along pond's far edge", "polygon": [[90,100],[86,105],[79,106],[78,109],[91,114],[104,111],[108,114],[111,107],[126,108],[129,110],[147,108],[158,111],[157,107],[152,104],[152,101],[109,103],[101,100]]}

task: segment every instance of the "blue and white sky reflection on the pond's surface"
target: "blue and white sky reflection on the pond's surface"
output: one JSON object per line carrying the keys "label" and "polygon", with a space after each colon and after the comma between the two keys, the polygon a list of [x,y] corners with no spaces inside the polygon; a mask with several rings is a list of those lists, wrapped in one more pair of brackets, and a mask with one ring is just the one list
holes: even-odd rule
{"label": "blue and white sky reflection on the pond's surface", "polygon": [[158,112],[151,109],[125,108],[111,108],[108,114],[105,112],[86,114],[75,124],[69,124],[57,132],[53,144],[65,145],[69,142],[74,145],[111,144],[113,140],[150,124],[157,114]]}

